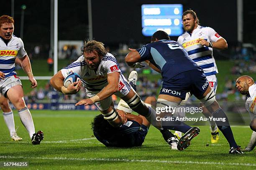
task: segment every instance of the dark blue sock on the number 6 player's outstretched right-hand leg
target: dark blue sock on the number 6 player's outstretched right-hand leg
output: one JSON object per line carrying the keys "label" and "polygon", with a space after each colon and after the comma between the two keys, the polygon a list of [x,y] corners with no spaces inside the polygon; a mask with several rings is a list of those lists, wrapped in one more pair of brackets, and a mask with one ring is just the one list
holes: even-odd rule
{"label": "dark blue sock on the number 6 player's outstretched right-hand leg", "polygon": [[[217,120],[215,121],[216,125],[218,126],[219,130],[223,133],[225,138],[228,140],[229,146],[238,148],[238,145],[236,144],[236,141],[234,139],[232,130],[228,122],[228,117],[226,116],[222,108],[219,108],[218,110],[213,112],[212,117],[216,118]],[[224,119],[225,119],[225,122],[223,121]]]}

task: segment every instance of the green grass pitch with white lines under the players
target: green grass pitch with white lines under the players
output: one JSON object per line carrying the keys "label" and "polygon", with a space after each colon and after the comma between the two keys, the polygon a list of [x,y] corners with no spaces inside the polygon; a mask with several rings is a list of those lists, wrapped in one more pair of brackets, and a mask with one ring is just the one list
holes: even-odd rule
{"label": "green grass pitch with white lines under the players", "polygon": [[[210,141],[208,126],[183,151],[171,150],[159,131],[151,126],[142,147],[107,148],[98,142],[90,127],[97,111],[31,110],[36,130],[43,130],[45,140],[32,145],[14,111],[15,125],[21,142],[10,141],[8,129],[0,116],[0,163],[28,162],[28,169],[256,169],[255,150],[243,155],[228,154],[229,146],[223,135],[218,144]],[[232,127],[243,148],[252,131],[248,126]],[[1,167],[0,167],[1,168]],[[3,167],[2,167],[3,168]],[[27,169],[26,168],[26,169]],[[7,169],[7,168],[3,168]]]}

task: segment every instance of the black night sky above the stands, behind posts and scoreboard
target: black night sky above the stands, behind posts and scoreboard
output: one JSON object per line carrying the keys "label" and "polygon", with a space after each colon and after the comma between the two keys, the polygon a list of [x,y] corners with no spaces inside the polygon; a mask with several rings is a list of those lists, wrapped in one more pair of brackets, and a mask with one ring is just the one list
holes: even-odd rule
{"label": "black night sky above the stands, behind posts and scoreboard", "polygon": [[[11,15],[11,0],[1,0],[0,15]],[[202,26],[209,26],[228,43],[237,43],[236,0],[92,0],[93,37],[108,45],[147,43],[150,37],[141,33],[142,4],[180,3],[183,11],[196,11]],[[20,6],[25,4],[25,44],[50,43],[50,0],[15,0],[15,32],[20,35]],[[256,2],[243,1],[243,41],[256,44]],[[59,40],[88,38],[86,0],[59,0]],[[177,40],[177,37],[171,37]]]}

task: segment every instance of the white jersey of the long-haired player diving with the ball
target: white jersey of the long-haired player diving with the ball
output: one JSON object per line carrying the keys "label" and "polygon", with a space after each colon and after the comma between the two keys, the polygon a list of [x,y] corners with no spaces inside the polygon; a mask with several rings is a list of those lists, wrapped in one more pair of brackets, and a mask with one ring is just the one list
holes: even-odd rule
{"label": "white jersey of the long-haired player diving with the ball", "polygon": [[71,72],[75,72],[80,75],[84,87],[89,91],[101,91],[103,87],[108,85],[107,74],[112,72],[120,72],[120,79],[123,80],[125,85],[131,90],[127,80],[123,76],[121,70],[118,67],[118,63],[115,57],[107,53],[100,62],[97,72],[90,70],[84,61],[84,56],[80,56],[75,62],[61,69],[61,73],[66,78]]}

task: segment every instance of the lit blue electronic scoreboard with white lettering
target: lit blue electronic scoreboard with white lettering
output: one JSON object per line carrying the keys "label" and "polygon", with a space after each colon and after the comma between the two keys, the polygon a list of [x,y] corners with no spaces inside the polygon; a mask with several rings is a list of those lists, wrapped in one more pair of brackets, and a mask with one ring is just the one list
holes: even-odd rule
{"label": "lit blue electronic scoreboard with white lettering", "polygon": [[141,5],[142,34],[152,36],[163,30],[169,36],[182,35],[182,4],[144,4]]}

